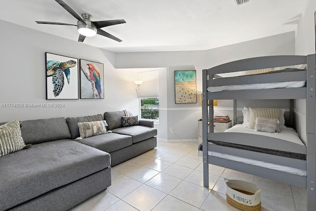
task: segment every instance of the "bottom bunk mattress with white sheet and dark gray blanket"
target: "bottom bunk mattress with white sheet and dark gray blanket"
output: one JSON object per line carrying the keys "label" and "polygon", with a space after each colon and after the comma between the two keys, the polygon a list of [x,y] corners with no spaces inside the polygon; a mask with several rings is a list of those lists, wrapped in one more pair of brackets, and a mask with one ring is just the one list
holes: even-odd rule
{"label": "bottom bunk mattress with white sheet and dark gray blanket", "polygon": [[[299,138],[299,135],[295,132],[295,130],[289,127],[281,129],[279,133],[267,133],[267,132],[254,131],[254,129],[249,129],[249,128],[243,127],[242,125],[235,125],[234,127],[231,127],[225,130],[225,132],[242,132],[242,133],[265,135],[269,137],[287,140],[289,142],[293,142],[293,143],[305,146],[305,144]],[[281,149],[271,150],[268,148],[258,148],[258,147],[245,146],[245,145],[240,145],[240,144],[233,144],[233,143],[228,143],[228,142],[223,142],[223,141],[213,141],[213,140],[209,140],[209,143],[225,146],[225,147],[233,147],[237,149],[250,150],[250,151],[259,152],[259,153],[266,153],[266,154],[272,154],[272,155],[294,158],[294,159],[299,159],[299,160],[306,160],[306,155],[304,154],[284,152]],[[300,176],[306,176],[306,170],[303,170],[303,169],[296,169],[296,168],[281,166],[281,165],[272,164],[272,163],[266,163],[266,162],[262,162],[258,160],[247,159],[247,158],[237,157],[234,155],[228,155],[225,153],[218,153],[218,152],[212,152],[212,151],[208,151],[208,155],[226,159],[226,160],[237,161],[240,163],[249,164],[253,166],[263,167],[267,169],[274,169],[274,170],[292,173],[292,174],[296,174]]]}

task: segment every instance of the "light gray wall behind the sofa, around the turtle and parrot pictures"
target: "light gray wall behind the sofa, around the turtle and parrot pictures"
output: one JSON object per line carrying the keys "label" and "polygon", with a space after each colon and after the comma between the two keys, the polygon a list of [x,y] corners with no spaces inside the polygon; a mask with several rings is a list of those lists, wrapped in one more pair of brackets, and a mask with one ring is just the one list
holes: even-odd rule
{"label": "light gray wall behind the sofa, around the turtle and parrot pictures", "polygon": [[[64,108],[0,107],[0,122],[137,112],[134,83],[114,69],[115,54],[0,20],[1,103],[64,103]],[[66,33],[66,32],[65,32]],[[93,38],[86,38],[93,39]],[[105,99],[45,100],[45,52],[104,63]]]}

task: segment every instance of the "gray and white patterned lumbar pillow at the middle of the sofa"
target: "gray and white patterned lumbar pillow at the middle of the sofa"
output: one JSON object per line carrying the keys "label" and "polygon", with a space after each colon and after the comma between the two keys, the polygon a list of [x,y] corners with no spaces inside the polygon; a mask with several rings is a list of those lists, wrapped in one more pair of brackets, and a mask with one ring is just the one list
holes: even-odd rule
{"label": "gray and white patterned lumbar pillow at the middle of the sofa", "polygon": [[80,137],[76,140],[107,133],[107,121],[78,123]]}

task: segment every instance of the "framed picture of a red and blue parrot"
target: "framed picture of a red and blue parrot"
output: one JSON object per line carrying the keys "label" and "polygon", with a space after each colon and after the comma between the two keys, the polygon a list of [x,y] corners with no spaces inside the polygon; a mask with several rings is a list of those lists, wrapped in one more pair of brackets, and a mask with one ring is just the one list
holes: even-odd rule
{"label": "framed picture of a red and blue parrot", "polygon": [[80,99],[104,99],[104,65],[80,59]]}

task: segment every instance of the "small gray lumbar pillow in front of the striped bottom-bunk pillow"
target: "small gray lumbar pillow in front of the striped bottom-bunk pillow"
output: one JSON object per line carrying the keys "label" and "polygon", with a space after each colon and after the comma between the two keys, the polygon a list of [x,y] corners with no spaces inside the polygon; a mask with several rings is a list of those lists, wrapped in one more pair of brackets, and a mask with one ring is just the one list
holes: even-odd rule
{"label": "small gray lumbar pillow in front of the striped bottom-bunk pillow", "polygon": [[262,131],[262,132],[270,132],[270,133],[279,132],[280,129],[278,127],[278,124],[279,124],[278,119],[257,117],[255,130]]}

